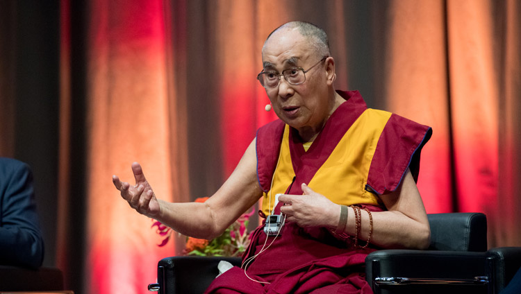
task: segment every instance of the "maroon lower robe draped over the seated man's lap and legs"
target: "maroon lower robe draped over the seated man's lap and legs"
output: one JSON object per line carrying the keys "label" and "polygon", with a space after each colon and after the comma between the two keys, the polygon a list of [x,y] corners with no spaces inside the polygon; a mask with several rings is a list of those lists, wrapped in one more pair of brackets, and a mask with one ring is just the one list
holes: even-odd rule
{"label": "maroon lower robe draped over the seated man's lap and legs", "polygon": [[[367,206],[372,211],[379,207]],[[263,226],[252,234],[243,262],[265,243]],[[274,237],[268,237],[266,247]],[[363,243],[363,242],[362,242]],[[213,281],[205,293],[372,293],[365,281],[365,257],[376,250],[355,249],[352,239],[321,227],[286,222],[282,234],[245,270],[234,267]]]}

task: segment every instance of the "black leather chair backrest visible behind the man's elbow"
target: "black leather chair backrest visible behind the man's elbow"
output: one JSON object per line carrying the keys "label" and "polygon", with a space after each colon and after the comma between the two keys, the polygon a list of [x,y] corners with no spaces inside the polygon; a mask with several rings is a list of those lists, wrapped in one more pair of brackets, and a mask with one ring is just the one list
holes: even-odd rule
{"label": "black leather chair backrest visible behind the man's elbow", "polygon": [[431,225],[429,250],[477,251],[487,250],[487,219],[485,214],[449,213],[428,214]]}

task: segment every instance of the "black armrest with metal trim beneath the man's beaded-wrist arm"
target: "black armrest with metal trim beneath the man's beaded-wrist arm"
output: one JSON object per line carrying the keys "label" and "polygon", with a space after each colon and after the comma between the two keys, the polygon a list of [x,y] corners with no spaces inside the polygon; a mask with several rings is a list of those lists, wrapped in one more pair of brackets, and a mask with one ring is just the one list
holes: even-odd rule
{"label": "black armrest with metal trim beneath the man's beaded-wrist arm", "polygon": [[[439,250],[379,250],[370,253],[365,258],[366,280],[374,293],[394,293],[389,288],[395,288],[395,293],[447,293],[432,284],[443,284],[439,281],[467,282],[472,286],[471,292],[486,293],[488,282],[481,283],[475,277],[488,277],[486,252],[439,251]],[[430,284],[425,288],[417,285],[379,284],[377,278],[420,278],[422,284]],[[486,278],[487,279],[487,278]],[[430,280],[430,281],[429,281]],[[477,281],[475,285],[472,281]],[[463,283],[461,283],[463,284]],[[454,286],[453,286],[454,287]],[[457,287],[457,286],[456,286]],[[460,290],[461,291],[461,288]],[[468,290],[467,290],[468,291]]]}

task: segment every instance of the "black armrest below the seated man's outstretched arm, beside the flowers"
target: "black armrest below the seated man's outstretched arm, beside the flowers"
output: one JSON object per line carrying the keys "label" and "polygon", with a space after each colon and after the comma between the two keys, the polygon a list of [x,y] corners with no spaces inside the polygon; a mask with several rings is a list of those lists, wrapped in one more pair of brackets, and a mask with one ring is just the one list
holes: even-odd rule
{"label": "black armrest below the seated man's outstretched arm, beside the flowers", "polygon": [[220,261],[240,266],[240,257],[167,257],[158,262],[159,294],[203,293],[217,277]]}

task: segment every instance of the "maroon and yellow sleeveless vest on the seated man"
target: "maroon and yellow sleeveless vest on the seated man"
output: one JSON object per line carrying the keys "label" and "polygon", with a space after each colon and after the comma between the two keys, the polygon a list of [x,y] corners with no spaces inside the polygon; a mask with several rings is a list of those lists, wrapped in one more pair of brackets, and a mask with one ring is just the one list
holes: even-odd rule
{"label": "maroon and yellow sleeveless vest on the seated man", "polygon": [[420,151],[431,128],[367,108],[358,91],[338,93],[347,101],[329,117],[307,151],[297,131],[282,121],[258,130],[257,172],[264,214],[270,214],[277,193],[302,193],[303,181],[340,205],[383,206],[380,196],[397,189],[407,168],[417,180]]}

